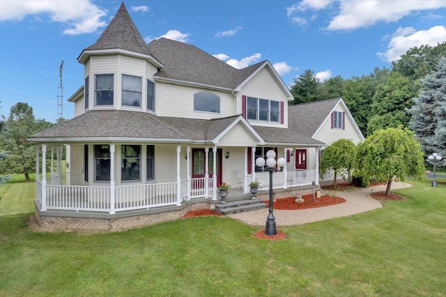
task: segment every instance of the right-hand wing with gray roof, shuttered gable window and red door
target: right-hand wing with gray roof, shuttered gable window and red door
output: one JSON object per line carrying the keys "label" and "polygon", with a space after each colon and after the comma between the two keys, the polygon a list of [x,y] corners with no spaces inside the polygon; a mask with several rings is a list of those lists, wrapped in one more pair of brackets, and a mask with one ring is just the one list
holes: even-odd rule
{"label": "right-hand wing with gray roof, shuttered gable window and red door", "polygon": [[[364,141],[364,135],[355,123],[342,98],[333,98],[316,102],[289,106],[289,128],[306,137],[330,145],[338,139],[350,139],[354,144]],[[323,147],[318,151],[307,148],[295,149],[295,169],[314,168],[314,162],[320,160]],[[319,181],[321,185],[331,184],[333,172],[325,172]]]}

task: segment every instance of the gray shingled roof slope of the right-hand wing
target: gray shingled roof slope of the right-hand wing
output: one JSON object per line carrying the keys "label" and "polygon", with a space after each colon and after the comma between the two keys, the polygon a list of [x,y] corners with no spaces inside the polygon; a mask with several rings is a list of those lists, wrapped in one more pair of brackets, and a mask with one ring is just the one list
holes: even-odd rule
{"label": "gray shingled roof slope of the right-hand wing", "polygon": [[288,107],[288,128],[312,137],[341,98],[321,100]]}

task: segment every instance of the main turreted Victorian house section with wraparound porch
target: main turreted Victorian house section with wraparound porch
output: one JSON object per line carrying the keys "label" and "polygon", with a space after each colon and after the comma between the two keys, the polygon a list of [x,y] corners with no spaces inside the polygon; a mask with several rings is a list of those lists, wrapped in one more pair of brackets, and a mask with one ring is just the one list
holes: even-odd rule
{"label": "main turreted Victorian house section with wraparound porch", "polygon": [[[325,143],[294,128],[293,96],[269,61],[236,69],[194,45],[146,45],[124,4],[77,57],[75,117],[30,137],[36,144],[36,217],[49,229],[118,230],[181,218],[218,204],[217,186],[249,195],[318,184]],[[293,116],[293,115],[291,115]],[[69,169],[61,169],[67,147]],[[287,160],[269,174],[256,158]],[[296,169],[294,152],[314,161]],[[50,172],[47,172],[47,163]]]}

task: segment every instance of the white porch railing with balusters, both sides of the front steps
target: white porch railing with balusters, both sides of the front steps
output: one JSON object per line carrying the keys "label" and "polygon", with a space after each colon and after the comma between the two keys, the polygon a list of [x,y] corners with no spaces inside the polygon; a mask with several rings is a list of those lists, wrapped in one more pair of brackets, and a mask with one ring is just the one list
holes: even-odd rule
{"label": "white porch railing with balusters, both sides of the front steps", "polygon": [[[275,172],[272,174],[272,188],[289,188],[300,185],[311,185],[316,181],[316,170],[300,172]],[[249,180],[251,176],[247,176]],[[261,182],[259,190],[267,190],[269,173],[256,174]],[[72,185],[75,181],[81,185]],[[109,212],[149,209],[161,206],[175,206],[178,201],[196,198],[213,197],[213,178],[192,178],[180,182],[180,199],[178,200],[178,183],[156,183],[151,185],[119,185],[114,187],[114,207],[111,207],[111,188],[104,186],[82,185],[82,174],[63,174],[46,178],[47,185],[43,189],[43,181],[36,179],[36,200],[41,209],[63,211],[96,211]],[[71,185],[70,185],[71,183]],[[44,191],[45,190],[45,191]],[[43,193],[46,193],[43,197]],[[45,199],[43,199],[45,198]],[[45,204],[45,205],[43,205]]]}

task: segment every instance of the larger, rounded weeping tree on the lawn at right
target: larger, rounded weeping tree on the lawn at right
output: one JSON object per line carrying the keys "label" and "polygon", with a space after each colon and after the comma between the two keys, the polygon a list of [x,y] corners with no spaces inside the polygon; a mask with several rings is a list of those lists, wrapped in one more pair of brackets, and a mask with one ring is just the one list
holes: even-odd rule
{"label": "larger, rounded weeping tree on the lawn at right", "polygon": [[355,175],[366,180],[387,181],[385,195],[390,195],[393,178],[404,181],[410,176],[421,180],[424,158],[415,133],[407,128],[376,130],[357,145]]}

